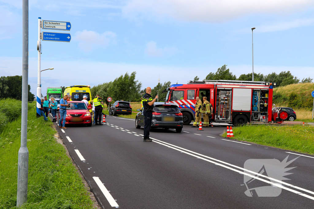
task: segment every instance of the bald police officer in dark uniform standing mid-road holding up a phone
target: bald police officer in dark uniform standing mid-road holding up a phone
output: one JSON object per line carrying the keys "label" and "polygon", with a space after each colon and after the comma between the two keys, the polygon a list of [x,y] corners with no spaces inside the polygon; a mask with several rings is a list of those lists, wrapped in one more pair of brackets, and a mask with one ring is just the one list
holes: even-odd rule
{"label": "bald police officer in dark uniform standing mid-road holding up a phone", "polygon": [[150,87],[146,88],[146,93],[142,98],[143,103],[143,115],[144,115],[144,142],[151,142],[152,139],[149,138],[149,131],[150,126],[152,124],[152,117],[153,117],[153,108],[154,102],[156,102],[158,96],[154,99],[150,96],[152,89]]}

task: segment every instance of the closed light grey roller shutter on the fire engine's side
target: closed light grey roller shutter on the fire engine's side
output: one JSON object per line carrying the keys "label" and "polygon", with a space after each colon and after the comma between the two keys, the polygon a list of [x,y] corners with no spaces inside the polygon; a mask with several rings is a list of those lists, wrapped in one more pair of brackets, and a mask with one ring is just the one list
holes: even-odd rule
{"label": "closed light grey roller shutter on the fire engine's side", "polygon": [[233,88],[232,110],[251,111],[252,89]]}

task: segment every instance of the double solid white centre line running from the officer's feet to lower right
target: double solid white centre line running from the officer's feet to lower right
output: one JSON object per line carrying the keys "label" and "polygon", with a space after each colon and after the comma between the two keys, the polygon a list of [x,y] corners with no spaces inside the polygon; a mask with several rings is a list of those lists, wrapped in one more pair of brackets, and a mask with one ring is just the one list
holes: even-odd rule
{"label": "double solid white centre line running from the officer's feet to lower right", "polygon": [[[246,170],[246,169],[241,168],[241,167],[239,167],[239,166],[232,165],[232,164],[230,164],[230,163],[226,163],[226,162],[224,162],[224,161],[221,161],[221,160],[218,160],[218,159],[214,159],[214,158],[208,157],[208,156],[206,156],[206,155],[199,154],[199,153],[193,152],[193,151],[191,151],[191,150],[178,147],[178,146],[173,145],[173,144],[169,144],[169,143],[167,143],[167,142],[160,141],[160,140],[155,139],[155,138],[151,138],[151,139],[154,139],[153,142],[158,143],[158,144],[161,144],[161,145],[164,145],[164,146],[166,146],[166,147],[168,147],[168,148],[175,149],[175,150],[180,151],[180,152],[182,152],[182,153],[185,153],[185,154],[194,156],[194,157],[196,157],[196,158],[198,158],[198,159],[203,159],[203,160],[205,160],[205,161],[207,161],[207,162],[210,162],[210,163],[213,163],[213,164],[215,164],[215,165],[219,165],[219,166],[221,166],[221,167],[230,169],[230,170],[232,170],[232,171],[236,171],[236,172],[239,173],[239,174],[247,175],[247,176],[249,176],[249,177],[251,177],[251,178],[255,178],[255,179],[257,179],[257,180],[266,182],[266,183],[268,183],[268,184],[270,184],[270,185],[274,185],[274,186],[280,187],[280,188],[282,188],[282,189],[284,189],[284,190],[291,191],[291,192],[296,193],[296,194],[298,194],[298,195],[301,195],[301,196],[304,196],[304,197],[307,197],[307,198],[309,198],[309,199],[314,200],[314,197],[312,197],[312,196],[309,196],[309,195],[300,193],[299,191],[295,191],[295,190],[292,190],[292,189],[287,188],[287,187],[284,187],[284,186],[279,186],[279,185],[276,184],[276,183],[273,183],[273,182],[268,181],[268,180],[261,179],[261,178],[259,178],[259,177],[257,177],[257,176],[261,176],[261,177],[264,177],[264,178],[266,178],[266,179],[273,180],[273,181],[279,182],[279,183],[281,183],[281,184],[284,184],[284,185],[287,185],[287,186],[290,186],[290,187],[294,187],[295,189],[299,189],[299,190],[306,191],[306,192],[309,192],[309,193],[311,193],[311,194],[314,194],[314,192],[312,192],[312,191],[309,191],[309,190],[303,189],[303,188],[301,188],[301,187],[297,187],[297,186],[291,185],[291,184],[289,184],[289,183],[286,183],[286,182],[283,182],[283,181],[280,181],[280,180],[277,180],[277,179],[274,179],[274,178],[271,178],[271,177],[268,177],[268,176],[265,176],[265,175],[256,173],[256,172],[251,171],[251,170]],[[158,142],[157,142],[157,141],[158,141]],[[167,144],[169,144],[169,145],[171,145],[171,146],[169,146],[169,145],[167,145]],[[180,149],[177,149],[177,148],[175,148],[175,147],[180,148]],[[185,151],[183,151],[183,150],[186,150],[186,151],[188,151],[188,152],[190,152],[190,153],[185,152]],[[229,167],[229,166],[222,165],[222,164],[220,164],[220,163],[217,163],[217,162],[214,162],[214,161],[212,161],[212,160],[208,160],[208,159],[199,157],[199,156],[194,155],[194,154],[191,154],[191,153],[194,153],[194,154],[197,154],[197,155],[206,157],[206,158],[208,158],[208,159],[212,159],[212,160],[218,161],[218,162],[220,162],[220,163],[229,165],[229,166],[231,166],[231,167],[238,168],[238,169],[240,169],[240,170],[243,170],[243,171],[252,173],[252,174],[254,174],[254,175],[250,175],[250,174],[245,173],[245,172],[242,172],[242,171],[240,171],[240,170],[236,170],[236,169],[231,168],[231,167]],[[257,176],[255,176],[255,175],[257,175]]]}

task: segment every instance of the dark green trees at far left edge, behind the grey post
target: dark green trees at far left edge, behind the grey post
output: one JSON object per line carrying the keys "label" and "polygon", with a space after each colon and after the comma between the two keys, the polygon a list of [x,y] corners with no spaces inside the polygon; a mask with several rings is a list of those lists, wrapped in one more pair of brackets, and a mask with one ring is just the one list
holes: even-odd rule
{"label": "dark green trees at far left edge, behind the grey post", "polygon": [[[22,100],[22,76],[1,76],[0,98]],[[35,95],[30,92],[30,85],[28,85],[28,101],[34,99]]]}

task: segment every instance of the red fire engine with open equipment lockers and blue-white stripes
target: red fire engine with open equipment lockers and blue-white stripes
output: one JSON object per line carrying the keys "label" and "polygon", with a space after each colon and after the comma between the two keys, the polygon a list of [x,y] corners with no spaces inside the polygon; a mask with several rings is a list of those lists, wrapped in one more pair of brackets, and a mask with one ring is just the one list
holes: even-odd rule
{"label": "red fire engine with open equipment lockers and blue-white stripes", "polygon": [[264,81],[189,81],[167,88],[166,102],[180,108],[185,125],[195,119],[196,97],[202,99],[203,96],[213,106],[212,121],[216,123],[282,123],[288,113],[272,108],[275,85]]}

